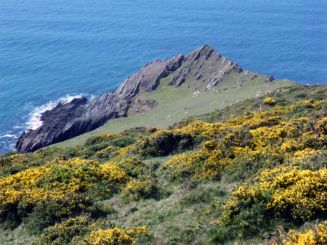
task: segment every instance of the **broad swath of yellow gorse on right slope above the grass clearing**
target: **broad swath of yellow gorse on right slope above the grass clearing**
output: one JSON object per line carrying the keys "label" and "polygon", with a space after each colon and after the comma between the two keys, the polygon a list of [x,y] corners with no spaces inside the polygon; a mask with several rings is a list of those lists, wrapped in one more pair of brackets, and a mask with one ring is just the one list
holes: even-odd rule
{"label": "broad swath of yellow gorse on right slope above the grass clearing", "polygon": [[[314,101],[305,101],[303,104],[310,108],[318,107]],[[322,104],[319,103],[319,108],[322,108]],[[163,172],[171,180],[182,180],[185,177],[210,180],[219,178],[223,173],[236,178],[246,177],[261,168],[274,168],[286,163],[306,168],[311,155],[326,150],[327,136],[322,129],[320,135],[315,134],[308,127],[308,117],[294,114],[301,108],[301,103],[295,103],[292,106],[251,111],[230,117],[224,123],[215,123],[211,128],[208,126],[210,123],[198,121],[186,126],[183,123],[177,124],[171,132],[184,130],[194,137],[197,133],[192,130],[200,128],[198,134],[216,137],[215,141],[210,141],[215,142],[215,147],[210,149],[204,144],[196,152],[180,154],[162,165]],[[325,118],[320,121],[325,122]],[[202,127],[209,128],[213,134]],[[158,131],[158,134],[151,137],[158,137],[163,132],[165,131]],[[145,146],[143,149],[148,149],[146,142],[142,144]],[[158,149],[154,151],[153,155],[156,155]],[[308,154],[299,155],[302,151]],[[146,150],[141,153],[146,154]]]}

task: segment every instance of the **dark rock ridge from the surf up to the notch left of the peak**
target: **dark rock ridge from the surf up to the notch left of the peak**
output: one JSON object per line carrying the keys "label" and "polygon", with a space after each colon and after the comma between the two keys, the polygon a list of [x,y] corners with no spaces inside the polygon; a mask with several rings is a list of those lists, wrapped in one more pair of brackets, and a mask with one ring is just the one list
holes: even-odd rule
{"label": "dark rock ridge from the surf up to the notch left of the peak", "polygon": [[105,93],[87,103],[86,98],[60,103],[43,113],[42,125],[36,130],[23,132],[16,142],[18,152],[34,152],[80,134],[92,131],[108,120],[125,117],[129,99],[140,91],[155,90],[161,78],[181,66],[184,56],[176,55],[171,60],[156,60],[145,64],[140,71],[129,76],[113,93]]}

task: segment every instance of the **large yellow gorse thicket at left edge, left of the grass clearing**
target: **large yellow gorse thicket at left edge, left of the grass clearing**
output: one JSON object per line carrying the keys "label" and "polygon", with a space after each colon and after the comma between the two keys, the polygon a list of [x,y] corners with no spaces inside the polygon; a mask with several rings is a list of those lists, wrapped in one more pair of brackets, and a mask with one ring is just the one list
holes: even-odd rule
{"label": "large yellow gorse thicket at left edge, left of the grass clearing", "polygon": [[129,176],[114,164],[99,165],[85,159],[53,161],[0,180],[0,217],[20,220],[31,212],[44,212],[49,223],[71,212],[83,211],[94,200],[107,198]]}

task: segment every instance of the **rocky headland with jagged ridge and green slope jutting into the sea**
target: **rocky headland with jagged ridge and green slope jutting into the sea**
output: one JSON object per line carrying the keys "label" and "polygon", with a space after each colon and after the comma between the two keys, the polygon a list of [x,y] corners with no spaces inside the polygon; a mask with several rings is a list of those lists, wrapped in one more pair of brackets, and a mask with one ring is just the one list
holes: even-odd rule
{"label": "rocky headland with jagged ridge and green slope jutting into the sea", "polygon": [[[181,54],[171,60],[145,64],[140,71],[126,78],[117,91],[105,93],[89,103],[85,97],[59,103],[42,114],[39,128],[21,134],[16,149],[20,153],[34,152],[95,130],[111,119],[140,118],[154,109],[152,116],[146,115],[146,119],[167,117],[177,122],[186,117],[185,113],[189,116],[197,111],[209,112],[226,103],[295,84],[244,71],[205,44],[186,57]],[[188,111],[181,111],[184,108]],[[171,124],[169,119],[161,125],[167,127]],[[155,124],[149,126],[159,126]]]}

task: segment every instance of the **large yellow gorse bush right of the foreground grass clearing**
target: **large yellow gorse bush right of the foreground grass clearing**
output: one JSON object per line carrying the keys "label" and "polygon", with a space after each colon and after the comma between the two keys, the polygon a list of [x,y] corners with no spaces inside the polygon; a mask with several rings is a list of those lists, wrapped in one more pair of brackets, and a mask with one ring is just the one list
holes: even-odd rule
{"label": "large yellow gorse bush right of the foreground grass clearing", "polygon": [[326,168],[319,171],[296,167],[266,169],[232,193],[224,205],[220,224],[237,224],[246,233],[265,227],[278,217],[312,220],[327,215],[326,200]]}

